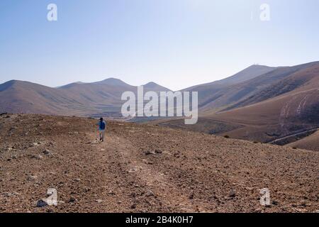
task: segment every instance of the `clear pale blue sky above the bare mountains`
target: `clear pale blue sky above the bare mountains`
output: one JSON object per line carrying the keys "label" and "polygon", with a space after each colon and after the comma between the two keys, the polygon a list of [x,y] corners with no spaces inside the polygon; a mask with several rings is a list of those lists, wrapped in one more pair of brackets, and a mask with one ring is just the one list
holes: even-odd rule
{"label": "clear pale blue sky above the bare mountains", "polygon": [[[267,22],[259,20],[263,3]],[[117,77],[177,90],[254,63],[317,61],[318,12],[318,0],[1,0],[0,83]]]}

